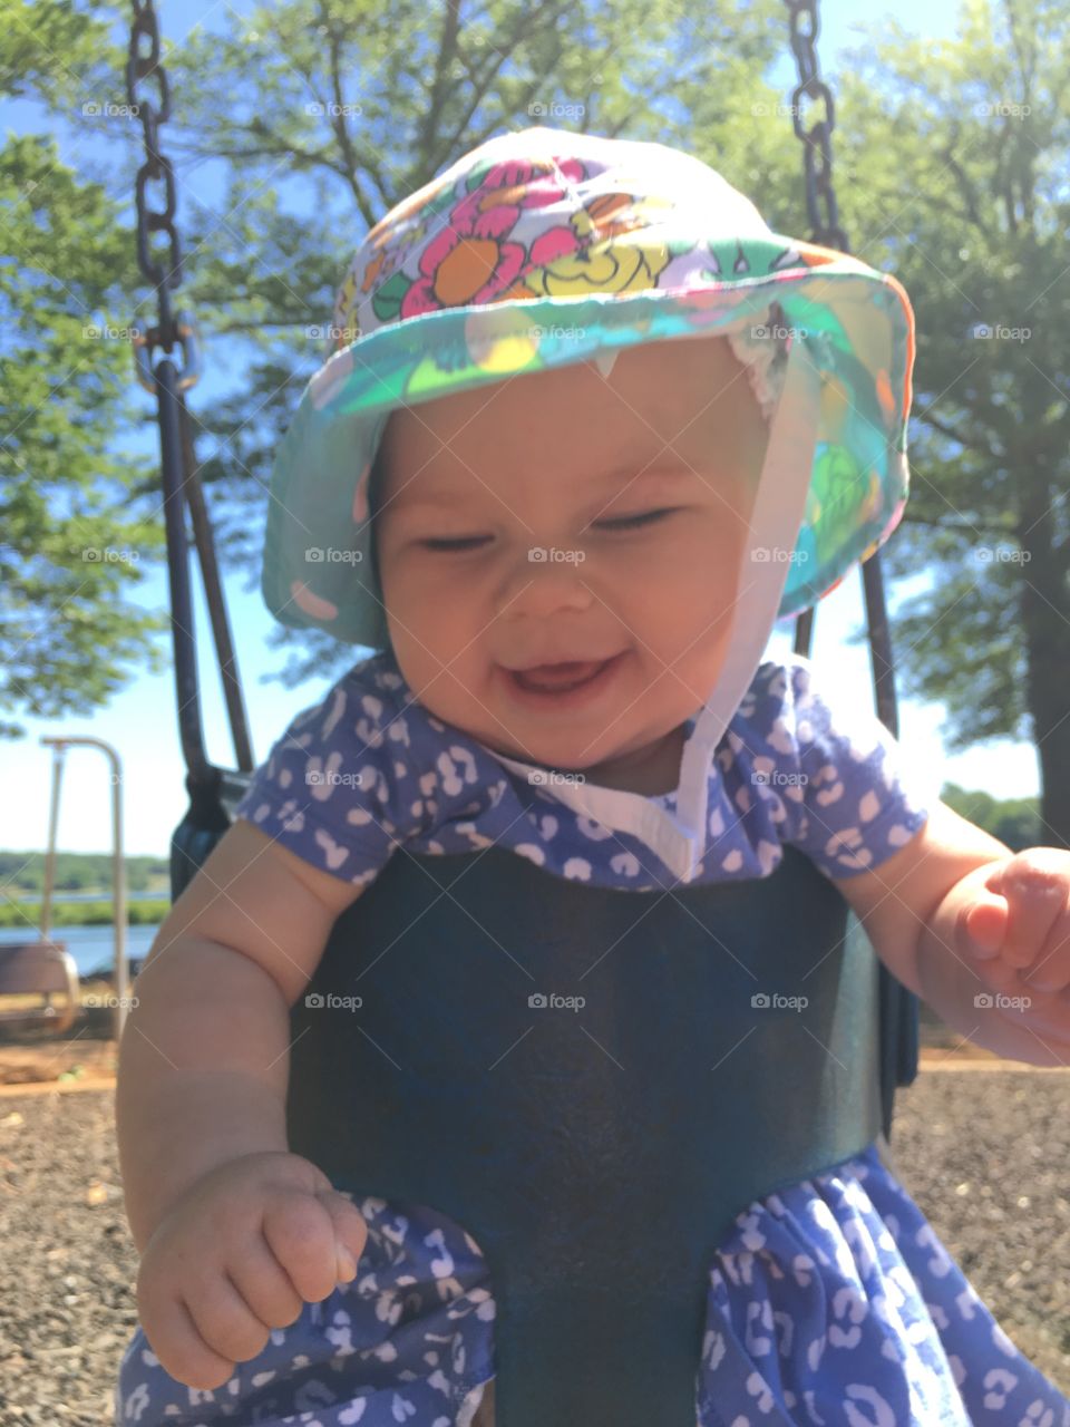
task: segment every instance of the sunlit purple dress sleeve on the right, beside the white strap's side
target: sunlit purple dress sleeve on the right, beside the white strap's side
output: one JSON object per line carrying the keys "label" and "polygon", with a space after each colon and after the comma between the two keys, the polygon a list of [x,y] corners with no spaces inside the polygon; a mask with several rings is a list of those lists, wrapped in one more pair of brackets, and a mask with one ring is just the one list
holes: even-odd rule
{"label": "sunlit purple dress sleeve on the right, beside the white strap's side", "polygon": [[870,705],[837,696],[827,681],[819,686],[815,665],[800,655],[783,674],[783,732],[795,745],[798,788],[783,798],[780,838],[829,878],[872,870],[924,826],[932,799]]}

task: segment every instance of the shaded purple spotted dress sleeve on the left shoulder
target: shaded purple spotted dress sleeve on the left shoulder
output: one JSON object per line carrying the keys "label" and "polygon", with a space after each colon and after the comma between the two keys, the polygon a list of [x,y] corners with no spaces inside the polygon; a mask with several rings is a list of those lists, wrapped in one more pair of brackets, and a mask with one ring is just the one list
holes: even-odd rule
{"label": "shaded purple spotted dress sleeve on the left shoulder", "polygon": [[421,831],[418,779],[402,705],[357,666],[292,719],[253,773],[235,816],[364,888],[397,845]]}

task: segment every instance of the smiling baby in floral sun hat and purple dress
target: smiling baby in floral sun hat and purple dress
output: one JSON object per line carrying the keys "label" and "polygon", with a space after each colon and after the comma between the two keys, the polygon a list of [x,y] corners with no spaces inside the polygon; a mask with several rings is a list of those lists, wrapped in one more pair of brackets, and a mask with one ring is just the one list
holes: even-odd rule
{"label": "smiling baby in floral sun hat and purple dress", "polygon": [[[739,264],[756,251],[736,237],[728,247],[702,245],[705,285],[663,284],[666,294],[695,294],[683,300],[702,314],[691,330],[659,340],[658,324],[673,311],[666,303],[662,315],[646,311],[625,340],[611,341],[613,298],[598,310],[603,350],[585,352],[582,335],[551,335],[555,350],[572,340],[579,355],[541,367],[531,365],[531,342],[502,350],[524,345],[508,324],[524,304],[598,290],[599,273],[603,291],[646,293],[693,250],[695,233],[688,247],[658,227],[672,203],[689,217],[702,211],[693,187],[679,187],[681,161],[710,174],[661,146],[554,130],[492,140],[384,220],[342,290],[342,313],[371,304],[361,310],[362,330],[368,311],[384,331],[422,324],[419,341],[404,348],[408,384],[404,364],[391,365],[401,344],[382,344],[377,360],[377,334],[367,334],[368,355],[355,362],[361,342],[354,348],[345,335],[311,384],[288,450],[305,452],[314,485],[327,469],[317,457],[328,450],[312,450],[314,412],[337,404],[345,437],[348,411],[364,422],[345,437],[357,441],[355,495],[344,487],[340,504],[324,485],[312,517],[304,487],[280,481],[272,519],[318,548],[310,531],[341,534],[344,509],[357,531],[350,548],[365,549],[368,565],[358,574],[354,564],[330,569],[321,549],[320,559],[307,557],[307,579],[271,585],[265,575],[265,592],[277,609],[300,611],[301,622],[367,634],[379,652],[278,741],[138,976],[116,1102],[127,1213],[141,1253],[141,1327],[117,1393],[123,1427],[274,1427],[312,1408],[322,1427],[492,1421],[484,1390],[491,1314],[478,1247],[429,1209],[398,1219],[381,1200],[358,1207],[291,1154],[285,1136],[290,1006],[334,922],[398,846],[454,852],[494,842],[548,876],[649,889],[768,876],[780,846],[793,843],[835,882],[892,972],[963,1035],[1039,1065],[1066,1057],[1070,855],[1041,848],[1014,856],[943,803],[923,806],[897,745],[872,715],[845,711],[806,659],[759,662],[785,591],[795,589],[796,608],[812,604],[875,544],[855,525],[832,562],[827,545],[812,541],[815,561],[826,562],[810,577],[788,568],[788,555],[807,548],[803,537],[822,519],[815,452],[847,451],[829,440],[835,422],[850,431],[857,420],[857,430],[872,432],[882,412],[885,445],[877,454],[872,437],[866,442],[869,469],[840,455],[840,485],[820,488],[825,505],[836,511],[839,499],[835,518],[843,519],[843,482],[853,472],[860,501],[850,508],[866,511],[870,528],[876,519],[886,538],[902,514],[895,479],[882,487],[880,475],[893,469],[902,441],[909,344],[900,344],[897,368],[883,365],[876,327],[850,311],[862,274],[875,291],[890,280],[825,250],[803,257],[805,245],[769,235],[770,253],[783,255],[762,275],[778,295],[780,287],[786,295],[789,274],[812,281],[820,264],[857,284],[840,313],[840,355],[835,342],[813,344],[827,368],[806,357],[798,331],[778,335],[753,320],[743,327],[730,304],[702,304],[702,294],[730,293],[719,254],[735,253]],[[618,163],[626,183],[618,176],[603,190],[585,190]],[[712,180],[703,180],[708,204],[728,204],[732,194],[753,227],[746,200]],[[535,237],[519,227],[525,213],[542,224]],[[705,213],[718,227],[713,207]],[[736,277],[746,271],[736,267]],[[836,278],[825,281],[823,300],[833,304]],[[770,307],[770,291],[755,311],[775,320],[780,308]],[[909,313],[905,295],[892,297],[893,308],[902,303],[900,314]],[[478,352],[482,364],[478,381],[459,381],[468,358],[455,345],[462,328],[444,321],[451,307],[482,307],[499,324],[468,332],[469,357]],[[545,352],[544,338],[539,330],[535,347]],[[437,382],[421,367],[432,350]],[[872,381],[862,375],[869,368]],[[361,377],[371,392],[382,388],[378,408],[372,395],[347,398],[347,377]],[[345,450],[342,437],[335,452]],[[835,531],[827,519],[826,535]],[[278,558],[271,531],[268,547]],[[532,778],[546,771],[558,776]],[[1030,968],[1033,980],[1024,982]],[[977,993],[990,996],[992,1009],[977,1009]],[[822,1219],[806,1209],[833,1192],[842,1194],[843,1227],[833,1213]],[[867,1241],[880,1243],[883,1271],[900,1296],[912,1284],[907,1299],[924,1327],[909,1326],[905,1310],[899,1357],[867,1339],[842,1368],[826,1363],[825,1377],[809,1378],[817,1370],[800,1334],[780,1367],[780,1388],[770,1386],[782,1416],[763,1421],[793,1423],[793,1403],[817,1391],[825,1420],[846,1427],[855,1418],[836,1407],[849,1400],[845,1384],[857,1383],[872,1384],[897,1423],[914,1420],[897,1410],[907,1400],[973,1410],[973,1383],[992,1366],[980,1330],[999,1329],[979,1301],[964,1313],[969,1286],[950,1261],[933,1267],[927,1240],[924,1250],[893,1243],[882,1213],[907,1223],[917,1216],[919,1229],[924,1222],[890,1170],[863,1157],[790,1193],[806,1196],[793,1222],[813,1220],[815,1236],[832,1236],[809,1246],[815,1273],[827,1276],[822,1301],[836,1301],[832,1276],[860,1243],[843,1216],[870,1216]],[[748,1243],[785,1204],[792,1207],[790,1194],[752,1206],[766,1219],[752,1222]],[[438,1260],[434,1273],[427,1246]],[[770,1274],[782,1286],[768,1286],[779,1300],[753,1299],[758,1287],[729,1271],[733,1251],[722,1246],[712,1266],[710,1314],[719,1334],[730,1337],[735,1324],[740,1341],[745,1323],[749,1341],[753,1303],[790,1317],[790,1294],[800,1290],[785,1269]],[[796,1244],[792,1261],[799,1251]],[[865,1271],[880,1271],[876,1260]],[[397,1333],[394,1294],[422,1304]],[[873,1297],[876,1290],[859,1301]],[[936,1303],[947,1307],[943,1346],[924,1307]],[[347,1326],[342,1344],[338,1323]],[[956,1331],[957,1383],[946,1356]],[[449,1341],[452,1357],[442,1351]],[[1043,1403],[1060,1413],[1051,1421],[1070,1423],[1070,1404],[1003,1343],[1000,1366],[1012,1363],[1017,1374],[1006,1401],[1021,1420]],[[723,1420],[750,1421],[743,1410],[752,1383],[722,1357],[703,1360],[703,1427],[720,1420],[715,1400]],[[949,1408],[940,1420],[956,1418]],[[969,1420],[989,1418],[962,1417]]]}

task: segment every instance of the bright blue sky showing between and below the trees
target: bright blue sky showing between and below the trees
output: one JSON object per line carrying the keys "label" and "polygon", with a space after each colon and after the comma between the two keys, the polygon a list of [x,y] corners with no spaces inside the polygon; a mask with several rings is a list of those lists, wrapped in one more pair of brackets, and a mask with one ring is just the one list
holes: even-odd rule
{"label": "bright blue sky showing between and below the trees", "polygon": [[[208,30],[223,30],[233,16],[251,13],[253,6],[245,0],[238,4],[165,0],[158,9],[167,36],[178,40],[198,23]],[[896,4],[895,14],[909,31],[930,39],[950,39],[956,30],[956,6],[950,0],[926,0],[924,4],[920,0],[905,0],[905,3]],[[859,43],[856,17],[857,7],[847,0],[829,0],[822,7],[819,40],[822,71],[833,78],[837,51],[845,46]],[[873,23],[879,21],[876,11],[870,11],[867,19]],[[773,81],[785,86],[785,103],[790,98],[793,74],[793,60],[789,54],[783,66],[773,74]],[[116,80],[113,94],[94,97],[124,103],[121,76]],[[0,106],[0,121],[4,123],[6,128],[19,133],[40,133],[49,128],[49,121],[43,117],[41,110],[26,101]],[[107,151],[103,131],[100,136],[93,134],[80,116],[77,123],[60,126],[54,131],[61,158],[77,166],[78,156],[81,158],[91,157],[94,164],[107,170],[111,156]],[[164,128],[163,133],[164,151],[167,151],[167,130]],[[788,120],[785,120],[785,143],[796,144]],[[218,166],[215,167],[218,168]],[[120,183],[123,181],[121,168],[113,166],[108,171],[117,173]],[[191,211],[190,204],[218,211],[223,190],[220,173],[213,171],[213,166],[190,166],[188,171],[180,166],[177,181],[180,228],[183,214]],[[133,190],[133,168],[127,174],[126,187]],[[301,184],[287,184],[284,193],[288,207],[300,207]],[[214,210],[213,204],[215,204]],[[131,244],[134,241],[133,228],[130,241]],[[131,295],[131,320],[136,301],[141,304],[137,310],[146,311],[144,295],[144,291]],[[330,314],[324,314],[325,320],[328,317]],[[198,407],[198,400],[204,400],[208,394],[217,395],[227,390],[235,390],[233,382],[227,384],[220,377],[220,372],[227,367],[221,351],[221,347],[210,347],[207,351],[208,370],[201,387],[191,394],[194,410]],[[211,367],[213,360],[218,362],[215,371]],[[295,390],[294,398],[297,398],[298,390]],[[147,392],[143,394],[143,400],[148,408],[151,398]],[[144,450],[153,448],[146,445]],[[233,749],[218,672],[213,665],[207,611],[195,564],[193,571],[207,751],[214,762],[228,765],[233,762]],[[247,584],[248,577],[245,575],[225,578],[253,751],[257,761],[263,761],[294,714],[317,702],[330,681],[325,678],[311,679],[292,691],[285,691],[277,682],[265,682],[287,662],[287,655],[272,654],[267,648],[265,641],[272,628],[272,619],[263,605],[258,589],[255,586],[247,589]],[[158,571],[150,575],[134,598],[147,608],[165,608],[165,572]],[[835,661],[836,681],[843,695],[872,706],[867,649],[865,645],[849,646],[845,642],[860,628],[862,621],[862,579],[856,572],[819,605],[813,658],[819,665]],[[770,642],[770,654],[786,652],[789,646],[789,629],[778,631]],[[170,635],[165,636],[164,648],[170,662]],[[123,759],[124,848],[128,853],[158,856],[167,853],[171,831],[187,806],[170,671],[156,678],[137,676],[107,708],[97,711],[90,718],[27,719],[21,714],[19,718],[27,726],[29,736],[14,743],[0,742],[0,786],[4,789],[4,798],[0,803],[0,848],[44,848],[53,755],[50,749],[40,745],[39,739],[41,735],[63,733],[66,736],[101,738],[118,749]],[[922,786],[927,788],[930,796],[937,796],[944,779],[967,788],[982,788],[996,796],[1021,796],[1039,791],[1037,758],[1031,745],[1000,741],[980,745],[956,758],[947,758],[940,739],[943,718],[940,706],[919,706],[900,701],[900,741],[909,749],[910,758],[916,763],[917,778]],[[96,749],[71,749],[67,753],[63,783],[60,848],[71,852],[107,850],[111,845],[110,819],[111,802],[106,759]]]}

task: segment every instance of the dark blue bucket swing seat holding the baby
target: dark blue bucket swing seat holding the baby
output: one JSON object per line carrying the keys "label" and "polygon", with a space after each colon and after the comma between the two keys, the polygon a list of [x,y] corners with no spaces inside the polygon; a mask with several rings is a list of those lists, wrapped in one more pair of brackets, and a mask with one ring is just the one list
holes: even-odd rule
{"label": "dark blue bucket swing seat holding the baby", "polygon": [[[215,841],[177,829],[175,896]],[[733,1217],[890,1132],[914,997],[783,853],[760,882],[619,892],[501,848],[398,849],[291,1009],[294,1153],[486,1259],[498,1427],[693,1427]]]}

